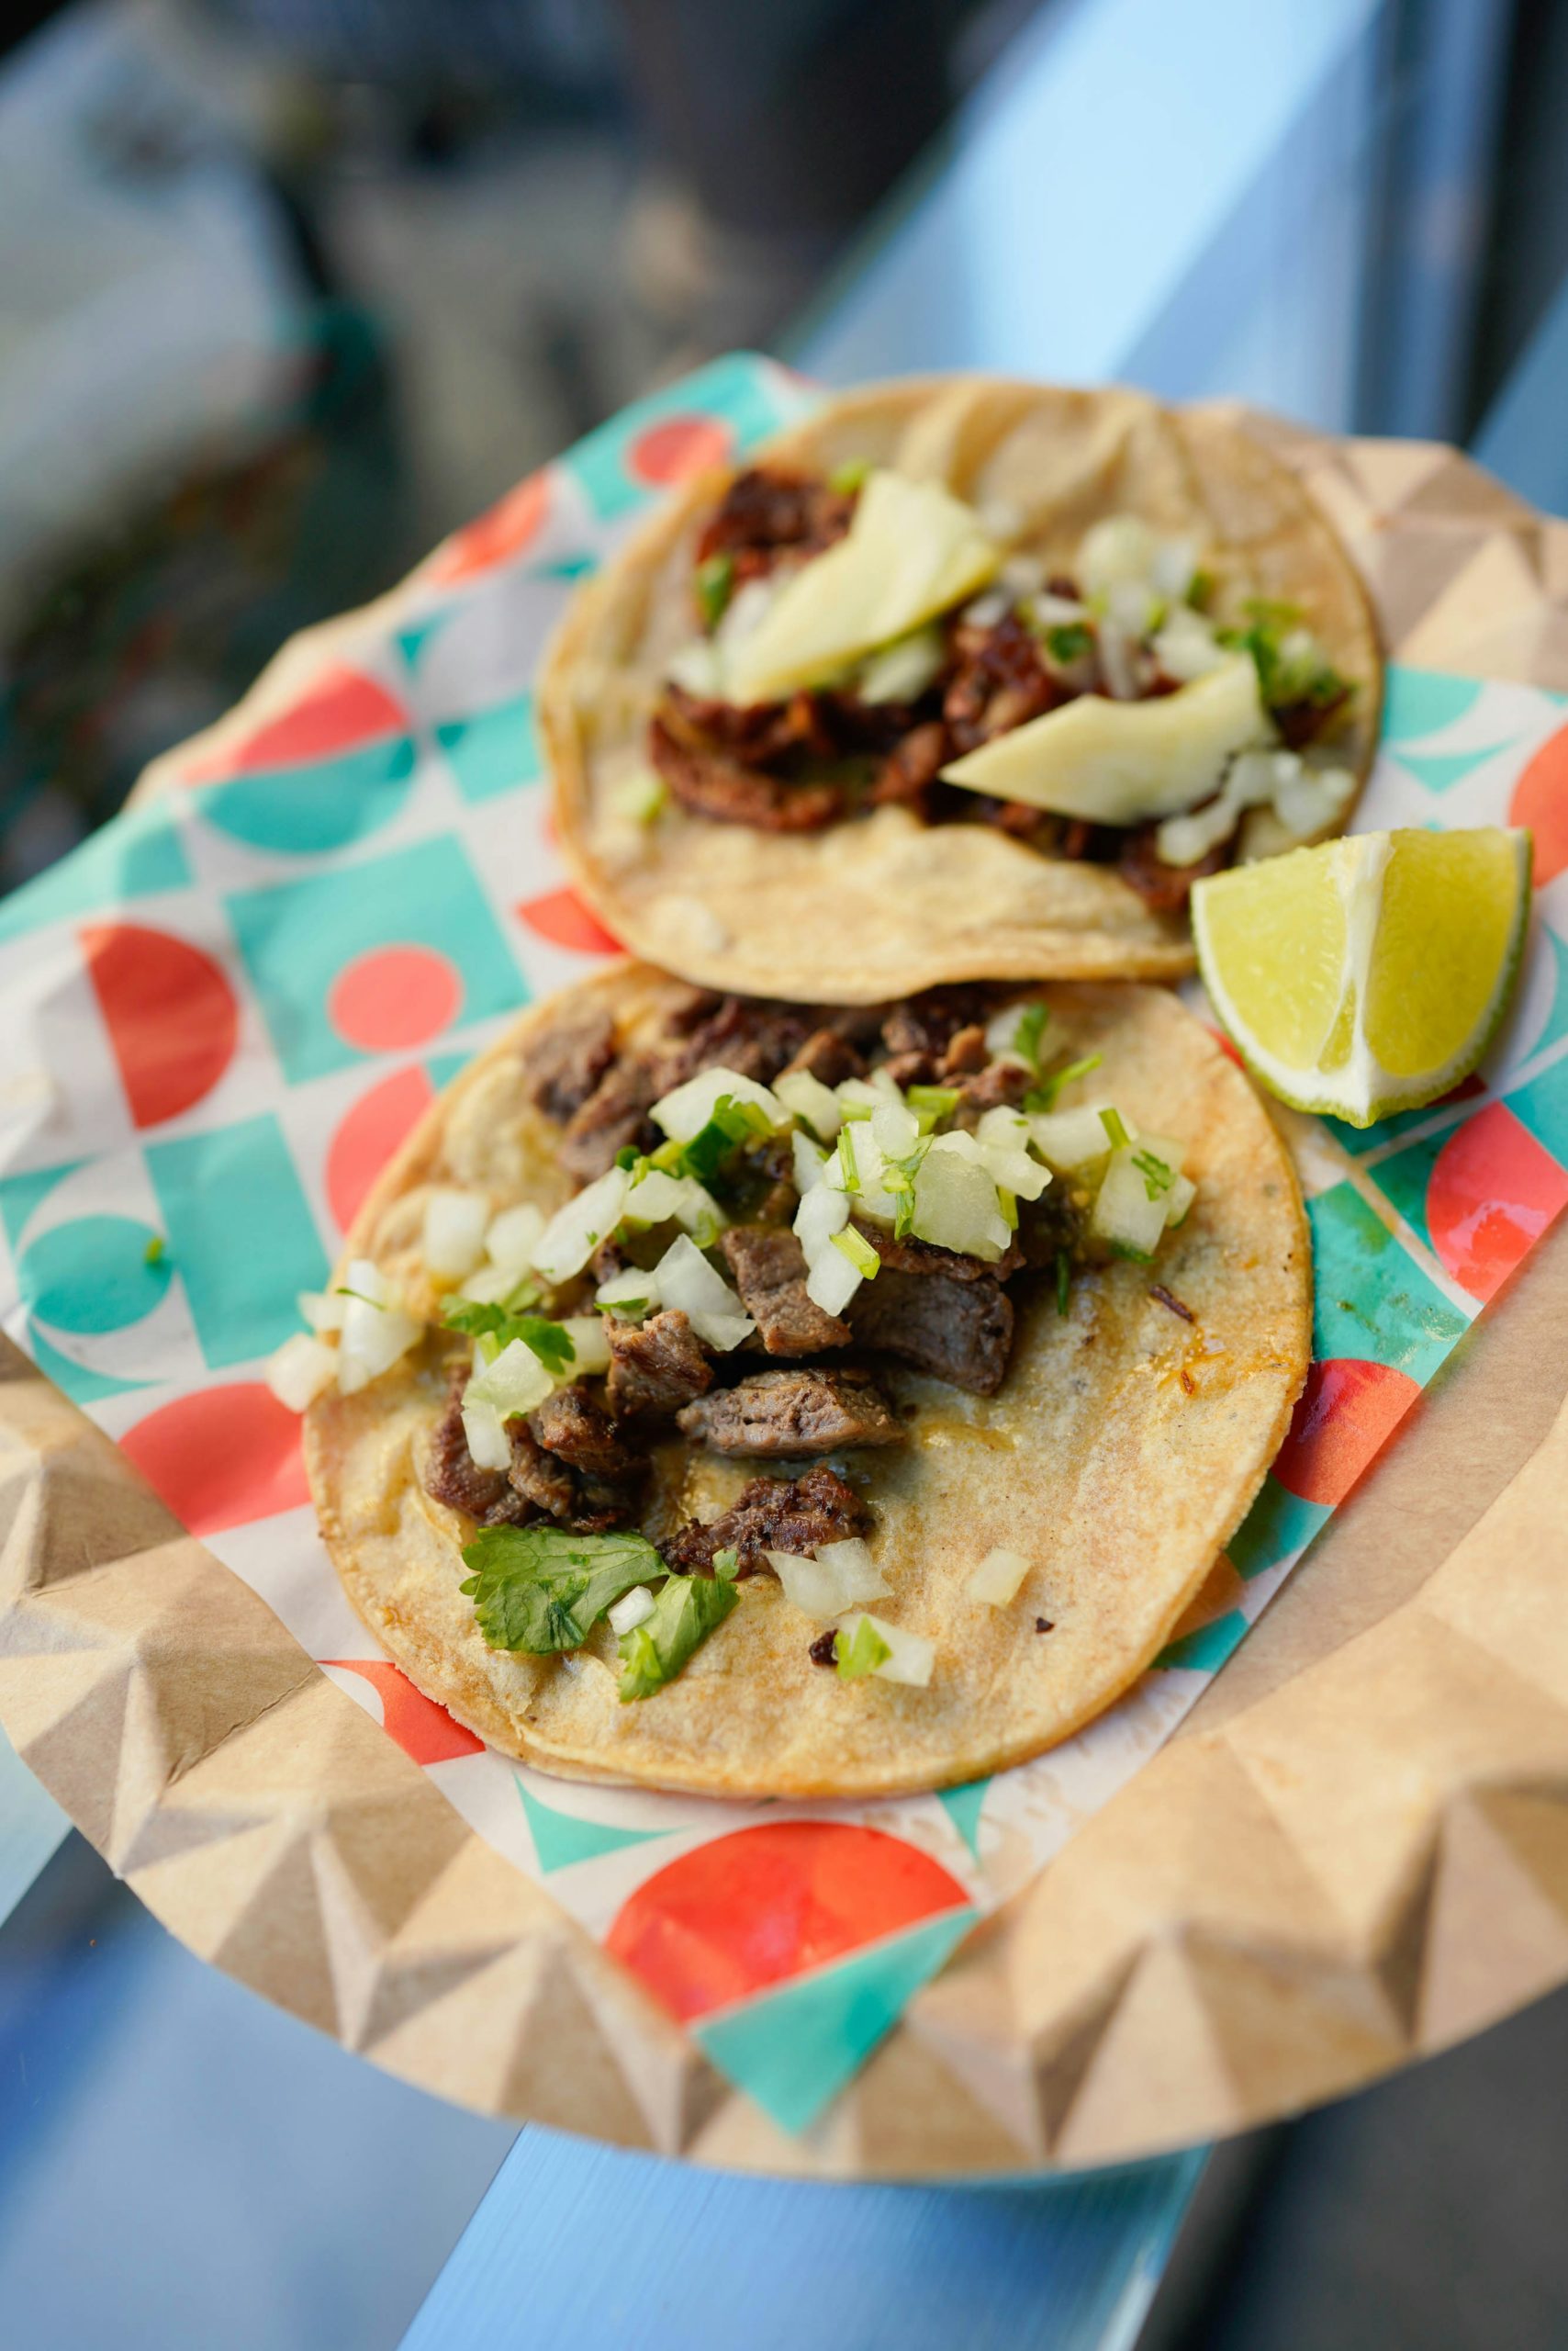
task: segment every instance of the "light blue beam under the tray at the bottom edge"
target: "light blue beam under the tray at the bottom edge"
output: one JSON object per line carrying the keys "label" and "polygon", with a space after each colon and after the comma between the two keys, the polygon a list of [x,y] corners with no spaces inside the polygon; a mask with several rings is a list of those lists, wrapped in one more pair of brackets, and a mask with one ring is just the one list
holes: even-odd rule
{"label": "light blue beam under the tray at the bottom edge", "polygon": [[402,2351],[1124,2351],[1201,2163],[1056,2186],[780,2186],[527,2130]]}

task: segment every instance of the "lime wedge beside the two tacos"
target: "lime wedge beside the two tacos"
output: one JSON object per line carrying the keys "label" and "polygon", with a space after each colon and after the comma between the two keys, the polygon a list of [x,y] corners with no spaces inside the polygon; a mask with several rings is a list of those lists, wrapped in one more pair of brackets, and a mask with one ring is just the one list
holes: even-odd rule
{"label": "lime wedge beside the two tacos", "polygon": [[1192,891],[1208,999],[1295,1110],[1371,1126],[1434,1103],[1497,1032],[1530,917],[1530,835],[1354,832]]}

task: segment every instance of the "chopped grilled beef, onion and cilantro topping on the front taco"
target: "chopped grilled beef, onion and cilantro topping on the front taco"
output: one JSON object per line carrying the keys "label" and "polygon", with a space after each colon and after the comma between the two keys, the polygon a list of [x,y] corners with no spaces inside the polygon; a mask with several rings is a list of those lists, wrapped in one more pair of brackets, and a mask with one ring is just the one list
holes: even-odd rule
{"label": "chopped grilled beef, onion and cilantro topping on the front taco", "polygon": [[[306,1300],[275,1392],[357,1399],[428,1366],[411,1469],[458,1521],[491,1650],[569,1657],[604,1627],[621,1704],[644,1702],[766,1578],[813,1667],[924,1688],[938,1641],[860,1608],[893,1592],[879,1462],[943,1392],[1004,1399],[1023,1324],[1065,1319],[1084,1272],[1138,1267],[1161,1321],[1194,1319],[1157,1279],[1199,1197],[1185,1145],[1098,1086],[1103,1056],[1039,997],[668,987],[635,1030],[562,1002],[515,1081],[567,1197],[430,1185],[395,1274],[350,1258]],[[689,1507],[693,1460],[741,1465],[719,1507]],[[1027,1573],[997,1545],[969,1566],[990,1606]]]}

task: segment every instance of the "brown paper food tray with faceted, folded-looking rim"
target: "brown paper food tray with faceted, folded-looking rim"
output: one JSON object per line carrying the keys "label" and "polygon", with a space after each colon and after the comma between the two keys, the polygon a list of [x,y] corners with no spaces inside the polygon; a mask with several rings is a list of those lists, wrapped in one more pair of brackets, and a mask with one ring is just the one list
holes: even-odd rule
{"label": "brown paper food tray with faceted, folded-looking rim", "polygon": [[[1392,654],[1568,689],[1568,524],[1434,444],[1248,426],[1340,524]],[[280,656],[247,724],[341,625]],[[806,2139],[475,1836],[7,1342],[0,1719],[190,1949],[487,2114],[816,2177],[1145,2156],[1568,1980],[1566,1392],[1568,1220],[1171,1744]]]}

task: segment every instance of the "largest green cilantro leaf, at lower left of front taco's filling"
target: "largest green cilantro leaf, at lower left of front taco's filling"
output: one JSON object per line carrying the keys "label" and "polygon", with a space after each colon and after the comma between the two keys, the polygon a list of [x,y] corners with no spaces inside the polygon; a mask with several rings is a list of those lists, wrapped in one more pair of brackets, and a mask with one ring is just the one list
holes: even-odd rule
{"label": "largest green cilantro leaf, at lower left of front taco's filling", "polygon": [[644,1535],[567,1526],[487,1526],[463,1545],[463,1566],[473,1573],[458,1589],[489,1646],[534,1657],[581,1648],[611,1601],[665,1570]]}

